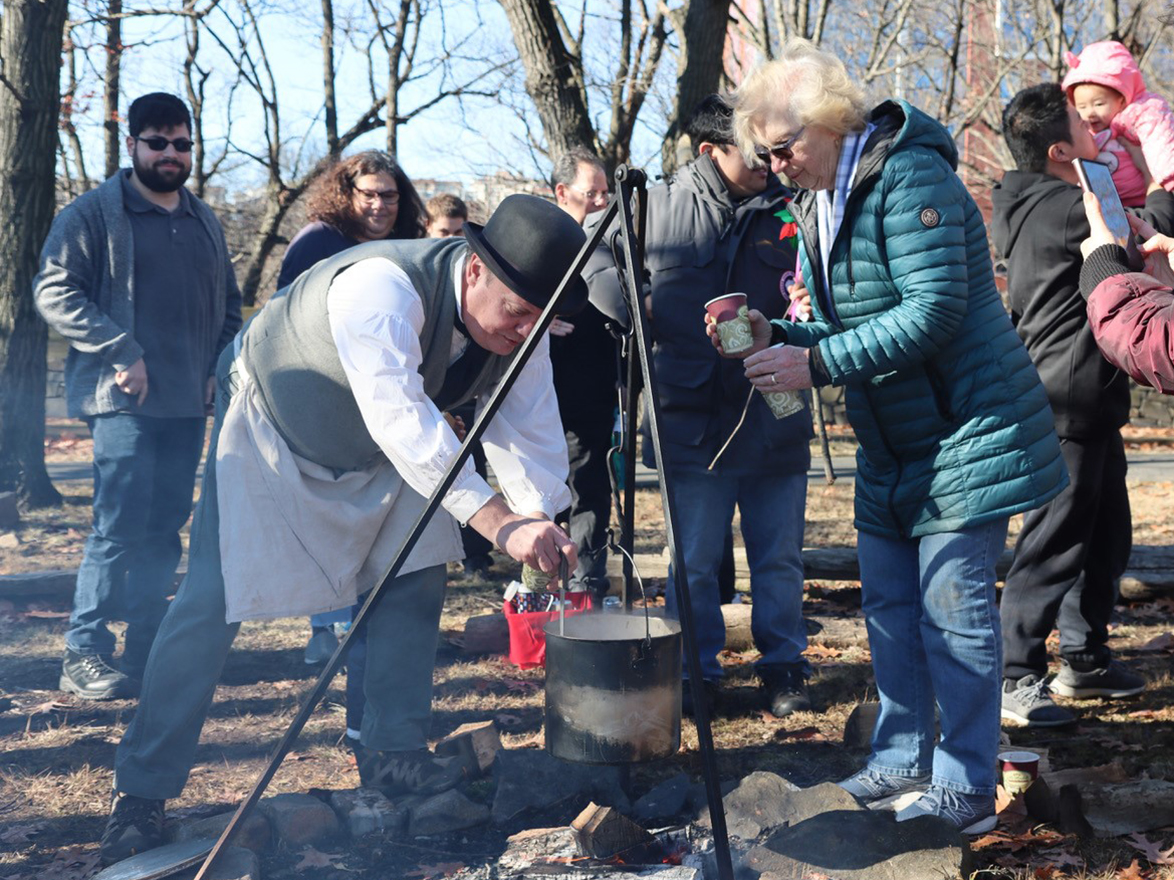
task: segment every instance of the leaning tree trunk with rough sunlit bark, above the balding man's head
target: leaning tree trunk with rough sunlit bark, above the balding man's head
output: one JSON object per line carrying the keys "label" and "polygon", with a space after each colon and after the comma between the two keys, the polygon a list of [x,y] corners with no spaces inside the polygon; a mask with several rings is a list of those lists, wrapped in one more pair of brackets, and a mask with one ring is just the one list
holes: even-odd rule
{"label": "leaning tree trunk with rough sunlit bark, above the balding man's head", "polygon": [[[598,153],[587,96],[576,84],[579,62],[567,52],[549,0],[499,1],[510,19],[526,68],[526,92],[538,108],[552,158],[576,145]],[[729,5],[729,0],[724,2]]]}

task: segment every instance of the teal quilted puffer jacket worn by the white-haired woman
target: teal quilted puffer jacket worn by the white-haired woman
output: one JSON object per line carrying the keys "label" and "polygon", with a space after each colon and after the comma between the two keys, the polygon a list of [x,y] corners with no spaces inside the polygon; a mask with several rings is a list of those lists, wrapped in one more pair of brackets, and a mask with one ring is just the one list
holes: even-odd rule
{"label": "teal quilted puffer jacket worn by the white-haired woman", "polygon": [[859,440],[856,527],[892,539],[979,526],[1067,485],[1039,375],[994,287],[981,215],[936,121],[898,101],[869,116],[823,292],[816,198],[803,192],[803,277],[818,346]]}

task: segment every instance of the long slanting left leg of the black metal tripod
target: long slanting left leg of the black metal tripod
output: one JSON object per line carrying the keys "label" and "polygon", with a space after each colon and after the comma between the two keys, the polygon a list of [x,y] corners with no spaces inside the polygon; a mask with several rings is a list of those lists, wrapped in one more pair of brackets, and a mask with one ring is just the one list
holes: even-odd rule
{"label": "long slanting left leg of the black metal tripod", "polygon": [[419,517],[417,517],[416,523],[412,526],[411,532],[409,532],[407,537],[404,540],[403,547],[399,548],[399,553],[396,554],[396,557],[392,560],[391,564],[387,566],[386,571],[384,571],[384,575],[379,581],[379,585],[376,587],[373,590],[371,590],[371,594],[367,596],[366,602],[363,603],[363,607],[359,609],[358,615],[356,615],[355,621],[351,623],[350,630],[348,630],[346,635],[343,636],[342,642],[338,643],[338,648],[335,649],[335,654],[326,662],[325,668],[323,668],[322,672],[319,673],[318,681],[315,682],[313,688],[310,689],[310,692],[302,702],[302,706],[301,709],[298,709],[298,712],[294,717],[294,720],[290,722],[289,729],[285,731],[281,740],[277,743],[277,746],[274,749],[274,752],[269,758],[269,764],[265,766],[265,769],[261,773],[261,777],[254,784],[252,791],[250,791],[248,797],[241,801],[241,806],[238,806],[236,813],[232,814],[232,819],[229,821],[228,826],[220,835],[220,839],[216,841],[216,845],[212,847],[212,851],[208,853],[208,858],[204,859],[204,864],[200,866],[200,871],[196,873],[195,880],[204,880],[208,872],[211,871],[211,867],[215,864],[217,857],[228,846],[229,841],[232,839],[232,835],[236,833],[236,830],[243,824],[244,819],[252,811],[254,806],[256,806],[257,801],[261,800],[261,796],[269,786],[269,783],[270,780],[272,780],[274,774],[281,766],[282,760],[284,760],[290,749],[294,747],[294,742],[302,732],[302,729],[305,726],[305,723],[310,719],[310,716],[313,713],[315,708],[322,700],[322,697],[325,695],[326,688],[330,686],[330,682],[335,677],[335,673],[338,672],[339,666],[343,665],[343,661],[346,658],[346,651],[350,648],[351,637],[355,635],[356,631],[358,631],[359,625],[363,623],[363,621],[366,620],[371,609],[379,601],[379,597],[383,595],[383,591],[387,588],[387,584],[390,584],[396,578],[396,575],[399,574],[399,569],[403,568],[404,561],[407,559],[407,554],[412,551],[413,547],[416,547],[417,541],[419,541],[420,535],[424,534],[424,529],[427,526],[429,521],[432,519],[432,515],[436,513],[437,508],[440,507],[440,501],[444,499],[445,494],[448,492],[448,488],[457,479],[457,474],[460,472],[461,466],[472,454],[473,445],[481,439],[481,434],[485,433],[485,427],[490,424],[490,420],[497,414],[498,408],[501,405],[501,400],[505,398],[506,394],[510,393],[510,388],[513,387],[514,381],[518,379],[518,374],[521,373],[521,370],[526,365],[526,361],[529,360],[529,357],[531,354],[533,354],[534,348],[538,347],[538,344],[541,340],[542,334],[546,332],[546,329],[551,325],[551,321],[554,320],[554,316],[558,311],[559,303],[562,300],[566,292],[571,289],[572,283],[579,277],[580,272],[582,272],[583,266],[587,264],[587,259],[591,257],[591,255],[594,252],[595,248],[602,239],[603,232],[606,231],[608,224],[610,223],[612,218],[615,216],[618,210],[616,199],[614,197],[612,199],[612,203],[605,210],[607,211],[607,214],[605,214],[603,221],[599,224],[599,226],[596,226],[595,232],[591,236],[591,238],[587,239],[587,243],[583,244],[582,250],[579,251],[579,256],[575,257],[574,263],[567,270],[567,273],[562,277],[562,280],[559,283],[559,286],[555,290],[554,296],[551,297],[551,302],[547,303],[546,309],[542,310],[542,313],[539,316],[538,321],[534,324],[534,329],[531,331],[529,336],[526,337],[526,340],[521,344],[521,347],[514,356],[513,363],[510,365],[510,368],[506,371],[506,374],[501,378],[501,381],[498,384],[497,390],[494,390],[493,394],[490,397],[488,402],[485,405],[485,408],[481,411],[481,414],[473,424],[472,429],[465,435],[465,442],[461,444],[460,449],[457,452],[457,456],[452,460],[452,463],[448,465],[448,469],[445,472],[445,475],[441,478],[440,482],[437,483],[436,489],[432,490],[432,495],[429,497],[427,506],[420,513]]}

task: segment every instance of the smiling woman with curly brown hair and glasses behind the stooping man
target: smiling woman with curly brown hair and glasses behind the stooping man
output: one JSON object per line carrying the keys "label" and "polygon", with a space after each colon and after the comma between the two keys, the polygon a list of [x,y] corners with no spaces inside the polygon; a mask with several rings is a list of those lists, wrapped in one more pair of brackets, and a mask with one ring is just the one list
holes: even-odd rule
{"label": "smiling woman with curly brown hair and glasses behind the stooping man", "polygon": [[321,259],[363,242],[424,238],[427,211],[404,169],[382,150],[344,158],[315,181],[306,218],[285,249],[281,290]]}

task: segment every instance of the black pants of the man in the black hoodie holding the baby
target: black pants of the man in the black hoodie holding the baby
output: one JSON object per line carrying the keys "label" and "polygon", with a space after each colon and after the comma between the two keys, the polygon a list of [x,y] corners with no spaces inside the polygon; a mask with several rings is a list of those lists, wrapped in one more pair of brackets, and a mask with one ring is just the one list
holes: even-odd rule
{"label": "black pants of the man in the black hoodie holding the baby", "polygon": [[1060,630],[1061,656],[1108,663],[1108,621],[1133,544],[1121,433],[1060,439],[1068,487],[1028,512],[1003,589],[1003,673],[1047,671],[1046,642]]}

